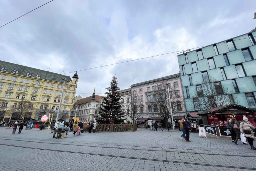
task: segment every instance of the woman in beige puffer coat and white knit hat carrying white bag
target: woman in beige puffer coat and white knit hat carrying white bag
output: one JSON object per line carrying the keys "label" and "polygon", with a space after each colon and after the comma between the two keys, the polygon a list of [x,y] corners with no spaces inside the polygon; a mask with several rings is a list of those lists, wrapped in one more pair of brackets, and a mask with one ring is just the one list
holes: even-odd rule
{"label": "woman in beige puffer coat and white knit hat carrying white bag", "polygon": [[251,149],[255,150],[255,147],[253,146],[253,140],[254,140],[253,130],[255,130],[255,127],[249,122],[246,116],[243,116],[243,121],[240,123],[240,132],[243,133],[244,136],[247,138],[247,141],[250,144]]}

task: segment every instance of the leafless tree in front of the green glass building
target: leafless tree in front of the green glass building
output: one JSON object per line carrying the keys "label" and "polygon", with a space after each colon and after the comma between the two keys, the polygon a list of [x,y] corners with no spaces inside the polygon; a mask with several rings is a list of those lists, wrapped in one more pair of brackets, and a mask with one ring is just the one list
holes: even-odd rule
{"label": "leafless tree in front of the green glass building", "polygon": [[[207,79],[207,78],[206,78]],[[209,77],[208,83],[196,86],[197,93],[193,94],[191,106],[197,111],[207,111],[212,108],[222,107],[228,104],[237,104],[239,101],[236,97],[231,97],[233,93],[228,87],[222,87],[220,81]]]}

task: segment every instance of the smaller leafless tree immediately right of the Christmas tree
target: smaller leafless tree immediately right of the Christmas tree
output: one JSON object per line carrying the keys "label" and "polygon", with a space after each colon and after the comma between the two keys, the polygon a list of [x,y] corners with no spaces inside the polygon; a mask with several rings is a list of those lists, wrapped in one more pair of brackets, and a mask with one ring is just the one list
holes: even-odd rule
{"label": "smaller leafless tree immediately right of the Christmas tree", "polygon": [[132,119],[133,124],[135,119],[140,117],[144,111],[141,99],[139,99],[139,96],[133,92],[126,98],[123,108],[125,115]]}

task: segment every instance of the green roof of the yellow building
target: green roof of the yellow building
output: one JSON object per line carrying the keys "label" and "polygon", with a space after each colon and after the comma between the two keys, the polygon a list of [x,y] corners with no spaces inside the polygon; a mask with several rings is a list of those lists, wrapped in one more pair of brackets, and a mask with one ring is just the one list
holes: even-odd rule
{"label": "green roof of the yellow building", "polygon": [[40,79],[49,80],[49,81],[56,81],[56,82],[63,83],[64,80],[62,80],[61,78],[63,79],[66,78],[68,82],[72,81],[71,78],[66,75],[56,74],[53,72],[44,71],[41,69],[31,68],[28,66],[18,65],[15,63],[10,63],[10,62],[5,62],[0,60],[0,69],[1,68],[6,68],[7,70],[5,72],[9,72],[9,73],[13,73],[13,70],[17,70],[19,71],[17,75],[26,76],[27,73],[31,73],[32,74],[31,77],[34,77],[34,78],[36,78],[36,75],[41,75]]}

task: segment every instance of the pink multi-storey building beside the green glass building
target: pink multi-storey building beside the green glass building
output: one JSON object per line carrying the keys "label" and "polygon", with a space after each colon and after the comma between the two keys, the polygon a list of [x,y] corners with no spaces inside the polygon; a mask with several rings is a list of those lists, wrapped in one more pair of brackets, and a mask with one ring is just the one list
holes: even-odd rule
{"label": "pink multi-storey building beside the green glass building", "polygon": [[158,90],[163,89],[162,86],[166,84],[168,84],[169,88],[175,93],[174,98],[180,101],[177,103],[177,106],[175,106],[176,109],[174,109],[175,113],[173,113],[173,116],[183,116],[186,114],[180,74],[174,74],[131,85],[131,93],[137,94],[137,98],[139,98],[137,100],[141,102],[141,117],[150,118],[159,116],[156,110],[157,103],[154,104],[154,101],[156,101],[155,98],[156,95],[158,95]]}

